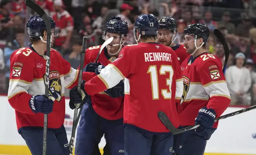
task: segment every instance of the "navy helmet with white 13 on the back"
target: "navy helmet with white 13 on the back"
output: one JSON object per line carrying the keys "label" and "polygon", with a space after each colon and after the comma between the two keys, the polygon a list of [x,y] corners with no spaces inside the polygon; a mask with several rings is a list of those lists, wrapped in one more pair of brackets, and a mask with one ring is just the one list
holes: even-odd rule
{"label": "navy helmet with white 13 on the back", "polygon": [[139,15],[134,22],[133,34],[136,34],[136,30],[142,36],[157,36],[159,24],[157,18],[153,14]]}

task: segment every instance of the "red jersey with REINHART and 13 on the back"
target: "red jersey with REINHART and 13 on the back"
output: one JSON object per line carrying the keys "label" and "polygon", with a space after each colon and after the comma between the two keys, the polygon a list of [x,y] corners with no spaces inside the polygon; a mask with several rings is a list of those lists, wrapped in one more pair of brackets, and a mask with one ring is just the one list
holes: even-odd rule
{"label": "red jersey with REINHART and 13 on the back", "polygon": [[175,99],[182,96],[177,55],[158,43],[126,45],[118,59],[85,83],[89,95],[114,87],[124,79],[124,123],[151,132],[169,132],[157,117],[163,111],[178,127]]}

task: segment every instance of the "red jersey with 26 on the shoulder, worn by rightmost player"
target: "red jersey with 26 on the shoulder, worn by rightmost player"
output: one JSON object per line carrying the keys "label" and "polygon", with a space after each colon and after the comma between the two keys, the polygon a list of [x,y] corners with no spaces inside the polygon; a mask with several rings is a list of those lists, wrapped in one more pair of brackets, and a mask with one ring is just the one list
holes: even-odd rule
{"label": "red jersey with 26 on the shoulder, worn by rightmost player", "polygon": [[219,117],[231,101],[221,60],[212,54],[202,53],[194,59],[192,56],[185,59],[181,70],[184,91],[177,105],[180,125],[194,125],[198,111],[203,107],[215,110],[216,117]]}

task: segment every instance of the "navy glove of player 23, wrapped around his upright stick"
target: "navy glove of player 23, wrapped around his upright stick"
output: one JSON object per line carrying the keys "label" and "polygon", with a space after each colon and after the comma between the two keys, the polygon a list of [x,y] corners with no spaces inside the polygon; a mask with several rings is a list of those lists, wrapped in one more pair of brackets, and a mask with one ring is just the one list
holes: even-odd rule
{"label": "navy glove of player 23, wrapped around his upright stick", "polygon": [[29,100],[29,106],[34,113],[48,114],[52,112],[54,100],[53,96],[45,98],[45,95],[34,95]]}

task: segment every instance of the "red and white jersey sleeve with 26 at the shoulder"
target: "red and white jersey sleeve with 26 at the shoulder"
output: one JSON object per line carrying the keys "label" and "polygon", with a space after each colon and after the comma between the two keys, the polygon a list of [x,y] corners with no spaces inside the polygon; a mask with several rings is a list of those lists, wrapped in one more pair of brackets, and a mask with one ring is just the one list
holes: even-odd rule
{"label": "red and white jersey sleeve with 26 at the shoulder", "polygon": [[[204,57],[202,55],[201,57]],[[220,116],[230,104],[230,94],[222,72],[222,64],[219,59],[206,57],[202,59],[202,65],[198,65],[197,71],[204,90],[209,95],[207,108],[213,109],[217,117]]]}

